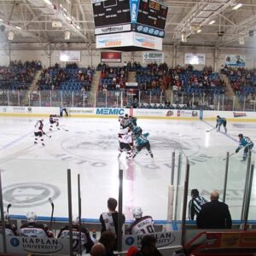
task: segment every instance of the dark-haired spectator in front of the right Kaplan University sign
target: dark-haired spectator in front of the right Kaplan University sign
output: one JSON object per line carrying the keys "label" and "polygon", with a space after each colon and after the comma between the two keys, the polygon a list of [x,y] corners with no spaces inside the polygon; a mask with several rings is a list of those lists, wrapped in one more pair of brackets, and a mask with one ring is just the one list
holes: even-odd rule
{"label": "dark-haired spectator in front of the right Kaplan University sign", "polygon": [[155,246],[156,238],[154,236],[143,236],[142,247],[134,256],[161,256],[162,253]]}

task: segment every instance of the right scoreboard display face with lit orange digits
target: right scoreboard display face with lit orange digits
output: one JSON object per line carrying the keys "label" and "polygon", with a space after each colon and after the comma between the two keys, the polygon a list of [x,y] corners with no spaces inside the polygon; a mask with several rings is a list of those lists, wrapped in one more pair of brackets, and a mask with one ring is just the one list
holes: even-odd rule
{"label": "right scoreboard display face with lit orange digits", "polygon": [[137,23],[165,30],[168,7],[152,0],[140,0]]}

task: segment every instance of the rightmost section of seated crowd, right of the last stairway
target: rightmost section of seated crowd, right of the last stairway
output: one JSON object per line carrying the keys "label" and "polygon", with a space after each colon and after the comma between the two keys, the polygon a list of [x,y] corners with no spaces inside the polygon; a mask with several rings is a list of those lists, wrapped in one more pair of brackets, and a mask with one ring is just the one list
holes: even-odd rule
{"label": "rightmost section of seated crowd, right of the last stairway", "polygon": [[256,93],[256,69],[247,69],[245,67],[224,66],[221,70],[228,76],[231,86],[236,94],[254,94]]}

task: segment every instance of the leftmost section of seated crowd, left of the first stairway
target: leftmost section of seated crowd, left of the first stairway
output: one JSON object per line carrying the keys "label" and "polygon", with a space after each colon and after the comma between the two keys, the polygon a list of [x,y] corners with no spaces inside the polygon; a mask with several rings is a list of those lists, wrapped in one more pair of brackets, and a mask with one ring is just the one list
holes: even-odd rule
{"label": "leftmost section of seated crowd, left of the first stairway", "polygon": [[11,61],[9,67],[0,67],[0,89],[27,90],[41,68],[41,61]]}

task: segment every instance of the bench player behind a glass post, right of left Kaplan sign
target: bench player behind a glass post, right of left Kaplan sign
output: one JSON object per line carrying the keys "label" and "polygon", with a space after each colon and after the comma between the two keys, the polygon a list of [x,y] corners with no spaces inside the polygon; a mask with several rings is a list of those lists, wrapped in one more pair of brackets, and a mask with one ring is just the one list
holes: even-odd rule
{"label": "bench player behind a glass post, right of left Kaplan sign", "polygon": [[[72,218],[72,231],[73,231],[73,253],[77,255],[79,253],[79,216],[73,216]],[[69,226],[66,225],[61,228],[58,238],[69,239]],[[81,226],[81,247],[82,254],[90,253],[91,247],[94,245],[90,237],[90,232],[83,225]]]}

